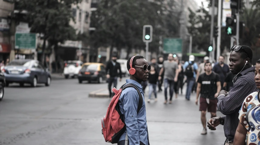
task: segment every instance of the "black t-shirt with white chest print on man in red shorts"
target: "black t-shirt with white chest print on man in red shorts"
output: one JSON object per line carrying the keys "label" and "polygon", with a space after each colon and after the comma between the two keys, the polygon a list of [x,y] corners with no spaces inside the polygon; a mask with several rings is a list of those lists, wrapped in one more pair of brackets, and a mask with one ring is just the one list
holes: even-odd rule
{"label": "black t-shirt with white chest print on man in red shorts", "polygon": [[218,74],[212,72],[210,75],[203,73],[198,78],[198,83],[201,84],[200,97],[214,99],[217,93],[217,82],[220,81]]}

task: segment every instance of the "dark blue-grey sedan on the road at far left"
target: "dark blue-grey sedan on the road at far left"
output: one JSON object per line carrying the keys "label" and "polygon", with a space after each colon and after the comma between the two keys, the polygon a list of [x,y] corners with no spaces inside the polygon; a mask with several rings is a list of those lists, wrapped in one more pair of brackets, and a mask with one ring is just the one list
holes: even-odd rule
{"label": "dark blue-grey sedan on the road at far left", "polygon": [[10,83],[19,83],[20,86],[28,83],[36,87],[40,83],[46,86],[51,83],[49,70],[38,60],[13,60],[2,72],[5,75],[6,86]]}

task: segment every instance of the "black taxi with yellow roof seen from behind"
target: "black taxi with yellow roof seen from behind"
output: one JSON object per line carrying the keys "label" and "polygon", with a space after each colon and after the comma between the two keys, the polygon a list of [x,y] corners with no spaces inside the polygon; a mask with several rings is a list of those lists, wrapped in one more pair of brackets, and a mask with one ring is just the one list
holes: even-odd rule
{"label": "black taxi with yellow roof seen from behind", "polygon": [[97,81],[102,83],[106,80],[105,65],[102,63],[84,63],[78,74],[79,83],[82,81]]}

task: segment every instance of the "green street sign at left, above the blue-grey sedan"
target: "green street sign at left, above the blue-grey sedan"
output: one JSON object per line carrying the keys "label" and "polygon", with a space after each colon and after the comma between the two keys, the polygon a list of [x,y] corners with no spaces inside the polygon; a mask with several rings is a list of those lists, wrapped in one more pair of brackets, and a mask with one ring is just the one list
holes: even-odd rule
{"label": "green street sign at left, above the blue-grey sedan", "polygon": [[36,33],[15,33],[15,49],[36,49]]}

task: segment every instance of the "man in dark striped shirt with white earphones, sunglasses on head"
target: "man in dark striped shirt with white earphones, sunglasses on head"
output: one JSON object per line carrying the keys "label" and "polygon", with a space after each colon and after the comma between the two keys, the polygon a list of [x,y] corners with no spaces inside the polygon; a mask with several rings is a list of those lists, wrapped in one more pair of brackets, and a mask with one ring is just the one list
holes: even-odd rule
{"label": "man in dark striped shirt with white earphones, sunglasses on head", "polygon": [[218,110],[226,115],[214,117],[208,120],[208,127],[211,130],[216,130],[219,124],[224,125],[224,133],[227,137],[225,145],[233,145],[234,135],[238,126],[239,109],[242,102],[252,92],[257,91],[254,77],[255,67],[252,66],[253,53],[250,47],[236,45],[231,47],[229,58],[229,66],[234,77],[234,85],[229,93],[222,90],[218,94]]}

